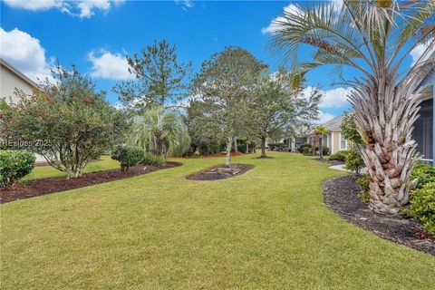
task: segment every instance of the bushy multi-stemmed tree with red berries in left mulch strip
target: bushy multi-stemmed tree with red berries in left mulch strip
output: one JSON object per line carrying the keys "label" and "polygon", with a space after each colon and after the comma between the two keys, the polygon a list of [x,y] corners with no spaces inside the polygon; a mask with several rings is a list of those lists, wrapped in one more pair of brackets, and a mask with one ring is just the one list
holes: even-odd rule
{"label": "bushy multi-stemmed tree with red berries in left mulch strip", "polygon": [[77,178],[90,160],[122,139],[127,124],[74,66],[71,71],[57,66],[53,78],[31,96],[15,91],[18,102],[4,103],[2,139],[42,155],[68,179]]}

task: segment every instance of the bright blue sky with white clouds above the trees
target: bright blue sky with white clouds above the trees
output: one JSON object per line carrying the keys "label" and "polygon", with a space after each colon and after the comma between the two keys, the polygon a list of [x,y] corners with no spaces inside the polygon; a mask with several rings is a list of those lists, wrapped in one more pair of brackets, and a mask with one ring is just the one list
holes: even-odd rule
{"label": "bright blue sky with white clouds above the trees", "polygon": [[[129,78],[125,55],[154,40],[175,43],[180,60],[192,61],[194,71],[228,45],[247,49],[275,71],[281,60],[268,49],[267,27],[291,6],[285,1],[5,0],[0,55],[33,79],[46,75],[54,59],[65,66],[74,63],[115,104],[113,84]],[[326,68],[308,75],[308,85],[321,85],[325,92],[322,121],[350,109],[347,89],[332,87],[332,82],[333,71]]]}

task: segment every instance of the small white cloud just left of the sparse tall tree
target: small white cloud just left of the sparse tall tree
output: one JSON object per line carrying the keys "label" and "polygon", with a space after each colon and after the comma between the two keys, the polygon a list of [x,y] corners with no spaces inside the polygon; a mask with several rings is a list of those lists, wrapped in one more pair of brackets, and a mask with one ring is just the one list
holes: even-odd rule
{"label": "small white cloud just left of the sparse tall tree", "polygon": [[129,73],[129,63],[121,53],[101,50],[97,55],[89,53],[88,59],[92,62],[93,77],[110,80],[131,80],[135,77]]}

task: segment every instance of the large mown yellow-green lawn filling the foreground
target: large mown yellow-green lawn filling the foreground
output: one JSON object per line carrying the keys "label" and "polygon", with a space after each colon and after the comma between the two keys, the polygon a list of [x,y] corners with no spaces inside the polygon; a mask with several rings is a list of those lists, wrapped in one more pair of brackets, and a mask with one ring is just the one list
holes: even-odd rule
{"label": "large mown yellow-green lawn filling the foreground", "polygon": [[223,159],[1,206],[3,289],[434,289],[435,257],[322,203],[338,174],[299,154],[191,181]]}

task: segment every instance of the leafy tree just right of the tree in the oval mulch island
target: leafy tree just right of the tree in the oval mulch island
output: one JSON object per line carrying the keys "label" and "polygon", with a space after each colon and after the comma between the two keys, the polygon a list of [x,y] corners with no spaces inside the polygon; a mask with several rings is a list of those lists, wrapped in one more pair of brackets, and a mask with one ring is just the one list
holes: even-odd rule
{"label": "leafy tree just right of the tree in the oval mulch island", "polygon": [[249,102],[253,128],[261,140],[261,157],[266,157],[266,138],[304,126],[315,119],[321,94],[313,90],[305,96],[294,84],[295,74],[285,70],[267,76],[256,85]]}

